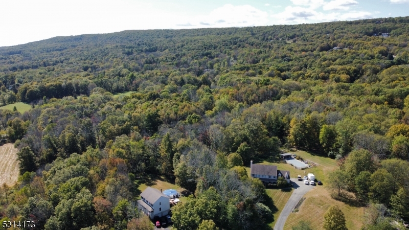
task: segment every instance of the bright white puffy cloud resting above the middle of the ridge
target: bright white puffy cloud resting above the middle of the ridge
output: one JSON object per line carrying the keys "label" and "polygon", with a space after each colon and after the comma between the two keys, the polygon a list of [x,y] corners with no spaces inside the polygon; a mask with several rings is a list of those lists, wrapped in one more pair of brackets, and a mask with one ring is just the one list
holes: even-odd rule
{"label": "bright white puffy cloud resting above the middle of the ridge", "polygon": [[[189,18],[184,25],[178,28],[203,28],[203,27],[250,27],[265,26],[268,22],[267,12],[249,5],[233,6],[226,4],[214,9],[209,15]],[[186,25],[185,25],[186,24]]]}

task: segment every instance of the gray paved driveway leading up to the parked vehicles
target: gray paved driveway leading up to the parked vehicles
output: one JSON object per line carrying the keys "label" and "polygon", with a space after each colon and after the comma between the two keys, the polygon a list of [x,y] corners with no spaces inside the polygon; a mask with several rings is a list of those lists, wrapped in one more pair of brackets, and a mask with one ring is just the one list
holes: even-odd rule
{"label": "gray paved driveway leading up to the parked vehicles", "polygon": [[[290,198],[288,199],[287,203],[284,206],[283,211],[280,213],[280,216],[277,219],[276,225],[274,225],[274,230],[283,230],[285,221],[290,215],[294,206],[297,205],[298,201],[311,189],[315,186],[312,185],[305,185],[304,180],[299,181],[297,178],[291,178],[292,188],[294,188],[294,192],[292,192]],[[316,183],[315,183],[316,184]]]}

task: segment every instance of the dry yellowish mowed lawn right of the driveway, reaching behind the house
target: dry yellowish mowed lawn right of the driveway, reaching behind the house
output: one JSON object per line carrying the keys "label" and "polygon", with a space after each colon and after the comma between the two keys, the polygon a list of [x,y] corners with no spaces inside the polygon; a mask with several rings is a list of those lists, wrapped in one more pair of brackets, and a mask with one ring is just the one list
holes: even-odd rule
{"label": "dry yellowish mowed lawn right of the driveway, reaching behind the house", "polygon": [[[305,173],[313,173],[317,180],[323,182],[323,186],[317,185],[316,189],[311,190],[304,196],[306,199],[300,206],[299,212],[291,213],[288,216],[284,230],[290,230],[292,226],[297,225],[301,220],[311,222],[314,229],[323,229],[324,214],[334,204],[337,204],[344,213],[348,229],[360,229],[363,223],[364,208],[350,206],[332,199],[327,189],[328,174],[338,168],[336,161],[328,157],[311,155],[304,151],[292,153],[318,164],[317,167],[305,170]],[[304,172],[301,175],[304,175]],[[293,174],[291,174],[291,177],[293,177]]]}

